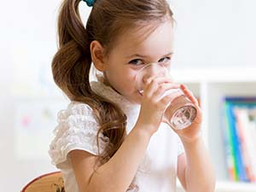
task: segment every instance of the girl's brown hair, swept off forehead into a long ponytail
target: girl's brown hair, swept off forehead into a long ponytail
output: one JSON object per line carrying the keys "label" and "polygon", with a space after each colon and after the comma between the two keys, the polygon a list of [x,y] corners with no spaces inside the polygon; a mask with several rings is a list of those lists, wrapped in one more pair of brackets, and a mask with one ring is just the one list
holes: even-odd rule
{"label": "girl's brown hair, swept off forehead into a long ponytail", "polygon": [[102,131],[109,138],[109,146],[101,154],[106,162],[125,139],[126,116],[116,104],[90,88],[90,43],[97,40],[108,53],[129,27],[148,26],[166,16],[172,18],[172,11],[166,0],[96,0],[84,27],[79,15],[80,1],[64,0],[61,4],[59,49],[52,61],[52,73],[55,84],[71,101],[84,102],[94,110],[101,125],[98,136]]}

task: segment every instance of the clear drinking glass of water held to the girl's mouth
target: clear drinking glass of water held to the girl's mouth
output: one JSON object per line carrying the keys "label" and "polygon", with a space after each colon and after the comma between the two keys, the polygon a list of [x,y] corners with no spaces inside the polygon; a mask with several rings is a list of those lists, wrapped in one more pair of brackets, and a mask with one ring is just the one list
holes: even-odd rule
{"label": "clear drinking glass of water held to the girl's mouth", "polygon": [[[139,69],[136,74],[136,89],[143,95],[143,87],[145,82],[150,77],[169,77],[166,67],[160,63],[149,63],[143,68]],[[189,101],[189,98],[183,94],[181,89],[166,90],[162,97],[173,95],[173,99],[169,102],[164,113],[164,121],[173,129],[182,130],[195,120],[196,108],[195,105]]]}

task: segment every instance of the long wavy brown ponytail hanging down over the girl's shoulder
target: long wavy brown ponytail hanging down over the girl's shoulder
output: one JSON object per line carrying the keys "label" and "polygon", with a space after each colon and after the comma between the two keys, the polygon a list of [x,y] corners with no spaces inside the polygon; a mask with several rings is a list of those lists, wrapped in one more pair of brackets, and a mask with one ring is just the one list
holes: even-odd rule
{"label": "long wavy brown ponytail hanging down over the girl's shoulder", "polygon": [[96,95],[90,88],[90,43],[88,32],[79,16],[80,0],[65,0],[58,18],[59,49],[52,61],[52,73],[61,90],[71,101],[84,102],[96,113],[101,125],[97,133],[109,138],[102,162],[109,160],[125,139],[125,113],[108,99]]}

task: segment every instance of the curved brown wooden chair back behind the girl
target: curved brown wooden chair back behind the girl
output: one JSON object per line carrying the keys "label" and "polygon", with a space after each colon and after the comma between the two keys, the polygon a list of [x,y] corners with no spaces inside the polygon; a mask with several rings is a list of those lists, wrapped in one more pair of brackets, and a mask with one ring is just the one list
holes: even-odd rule
{"label": "curved brown wooden chair back behind the girl", "polygon": [[36,177],[21,192],[65,192],[61,172],[49,172]]}

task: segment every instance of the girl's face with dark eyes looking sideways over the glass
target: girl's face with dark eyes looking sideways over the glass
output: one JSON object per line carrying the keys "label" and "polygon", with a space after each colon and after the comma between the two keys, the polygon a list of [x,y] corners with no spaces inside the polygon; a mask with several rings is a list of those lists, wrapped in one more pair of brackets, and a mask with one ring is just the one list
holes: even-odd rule
{"label": "girl's face with dark eyes looking sideways over the glass", "polygon": [[108,84],[129,101],[136,103],[142,98],[135,87],[138,70],[152,62],[161,62],[170,67],[173,53],[171,20],[166,20],[153,32],[147,32],[147,27],[125,32],[119,37],[105,60],[104,73]]}

